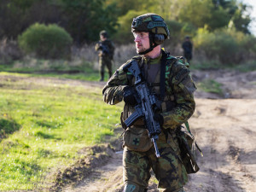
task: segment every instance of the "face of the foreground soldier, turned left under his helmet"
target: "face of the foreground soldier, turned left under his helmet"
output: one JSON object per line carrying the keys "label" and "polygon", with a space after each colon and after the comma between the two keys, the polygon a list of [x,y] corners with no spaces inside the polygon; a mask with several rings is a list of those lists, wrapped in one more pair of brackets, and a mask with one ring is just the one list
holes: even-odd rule
{"label": "face of the foreground soldier, turned left under his helmet", "polygon": [[133,32],[137,54],[150,48],[148,35],[149,32]]}

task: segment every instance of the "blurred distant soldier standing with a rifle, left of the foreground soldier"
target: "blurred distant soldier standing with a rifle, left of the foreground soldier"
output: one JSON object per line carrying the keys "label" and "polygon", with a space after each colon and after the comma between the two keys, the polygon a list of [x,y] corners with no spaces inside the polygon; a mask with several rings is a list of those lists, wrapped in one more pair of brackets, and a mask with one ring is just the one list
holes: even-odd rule
{"label": "blurred distant soldier standing with a rifle, left of the foreground soldier", "polygon": [[100,32],[100,39],[101,40],[95,45],[95,50],[99,53],[100,81],[104,81],[105,66],[108,68],[108,78],[112,76],[114,46],[113,42],[108,39],[108,32],[105,30]]}

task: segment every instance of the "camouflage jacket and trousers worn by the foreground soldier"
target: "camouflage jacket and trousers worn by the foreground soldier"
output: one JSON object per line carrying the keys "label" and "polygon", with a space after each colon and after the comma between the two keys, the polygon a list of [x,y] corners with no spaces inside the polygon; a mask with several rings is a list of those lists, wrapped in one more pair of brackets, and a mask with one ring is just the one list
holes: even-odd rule
{"label": "camouflage jacket and trousers worn by the foreground soldier", "polygon": [[[154,69],[151,72],[150,70],[147,72],[144,68],[145,66],[150,66],[152,61],[147,61],[144,56],[137,56],[134,59],[137,60],[144,73],[152,74]],[[104,102],[111,105],[121,102],[125,86],[134,84],[134,78],[131,74],[123,71],[123,67],[129,62],[127,61],[123,66],[119,67],[103,88]],[[158,64],[160,64],[160,60],[158,60]],[[147,189],[151,168],[159,181],[160,191],[183,191],[183,185],[188,180],[187,172],[181,161],[175,130],[178,125],[182,125],[194,113],[195,101],[193,92],[196,88],[190,78],[189,69],[172,56],[166,59],[165,79],[166,96],[159,112],[164,117],[164,124],[161,127],[159,140],[157,140],[160,158],[156,158],[152,145],[151,148],[143,152],[127,147],[124,150],[125,186],[134,189],[131,191],[144,191],[144,189]],[[151,89],[154,93],[160,94],[160,70],[155,76]],[[122,115],[123,120],[129,117],[133,111],[133,107],[125,104]],[[131,126],[133,130],[139,130],[139,128],[143,128],[142,119],[138,119]],[[145,129],[143,130],[146,131]],[[138,138],[137,142],[142,141]],[[134,145],[137,145],[137,143],[134,143]]]}

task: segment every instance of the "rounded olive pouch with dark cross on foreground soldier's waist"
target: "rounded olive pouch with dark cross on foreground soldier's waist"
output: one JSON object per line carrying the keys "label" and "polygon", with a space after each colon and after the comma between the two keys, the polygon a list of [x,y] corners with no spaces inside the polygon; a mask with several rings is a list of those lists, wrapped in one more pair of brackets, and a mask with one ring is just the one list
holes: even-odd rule
{"label": "rounded olive pouch with dark cross on foreground soldier's waist", "polygon": [[148,130],[142,127],[131,126],[125,130],[123,135],[124,146],[134,150],[145,152],[153,146],[150,138],[148,137]]}

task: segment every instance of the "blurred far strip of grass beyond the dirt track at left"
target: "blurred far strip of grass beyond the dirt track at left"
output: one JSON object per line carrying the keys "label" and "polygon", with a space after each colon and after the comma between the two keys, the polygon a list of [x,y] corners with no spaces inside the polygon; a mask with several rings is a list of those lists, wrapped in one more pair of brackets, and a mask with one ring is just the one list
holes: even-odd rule
{"label": "blurred far strip of grass beyond the dirt track at left", "polygon": [[[0,72],[25,73],[31,77],[53,77],[57,79],[79,79],[98,81],[97,70],[87,61],[49,61],[30,59],[29,61],[15,61],[9,65],[0,65]],[[107,73],[105,81],[107,81]]]}

